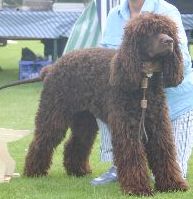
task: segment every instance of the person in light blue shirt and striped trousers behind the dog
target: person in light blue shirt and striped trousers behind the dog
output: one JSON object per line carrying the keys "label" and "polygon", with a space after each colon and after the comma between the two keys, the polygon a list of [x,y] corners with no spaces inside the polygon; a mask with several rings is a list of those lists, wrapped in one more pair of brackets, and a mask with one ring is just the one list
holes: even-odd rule
{"label": "person in light blue shirt and striped trousers behind the dog", "polygon": [[[177,148],[177,158],[182,174],[186,178],[188,159],[193,145],[193,71],[187,37],[179,11],[164,0],[123,0],[121,5],[110,10],[101,44],[106,48],[118,48],[128,19],[143,12],[167,15],[176,22],[178,27],[180,49],[184,59],[184,80],[177,87],[166,88],[165,93]],[[110,129],[99,119],[97,123],[101,133],[101,160],[113,161]],[[116,180],[116,167],[113,165],[106,173],[93,179],[91,184],[101,185]]]}

